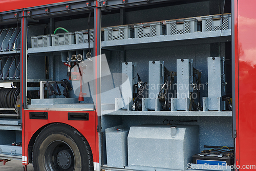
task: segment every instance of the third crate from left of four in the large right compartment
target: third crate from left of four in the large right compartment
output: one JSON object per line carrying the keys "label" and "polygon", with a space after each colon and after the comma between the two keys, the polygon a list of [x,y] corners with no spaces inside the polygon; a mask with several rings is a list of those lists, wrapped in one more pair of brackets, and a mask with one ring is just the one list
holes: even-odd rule
{"label": "third crate from left of four in the large right compartment", "polygon": [[167,35],[186,34],[201,31],[200,22],[196,18],[166,21]]}

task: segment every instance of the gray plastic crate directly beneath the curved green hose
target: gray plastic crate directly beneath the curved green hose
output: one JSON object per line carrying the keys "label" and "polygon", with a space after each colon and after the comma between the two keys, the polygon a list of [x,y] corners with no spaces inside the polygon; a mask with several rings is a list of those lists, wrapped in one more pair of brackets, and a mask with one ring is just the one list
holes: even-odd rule
{"label": "gray plastic crate directly beneath the curved green hose", "polygon": [[75,34],[69,33],[58,33],[52,34],[52,46],[61,46],[75,43]]}

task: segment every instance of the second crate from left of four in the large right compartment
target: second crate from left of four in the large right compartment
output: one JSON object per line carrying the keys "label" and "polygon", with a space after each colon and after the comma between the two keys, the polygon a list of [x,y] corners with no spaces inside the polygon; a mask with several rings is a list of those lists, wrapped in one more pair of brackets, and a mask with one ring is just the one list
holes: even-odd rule
{"label": "second crate from left of four in the large right compartment", "polygon": [[162,22],[134,25],[135,38],[155,37],[165,34],[166,28]]}

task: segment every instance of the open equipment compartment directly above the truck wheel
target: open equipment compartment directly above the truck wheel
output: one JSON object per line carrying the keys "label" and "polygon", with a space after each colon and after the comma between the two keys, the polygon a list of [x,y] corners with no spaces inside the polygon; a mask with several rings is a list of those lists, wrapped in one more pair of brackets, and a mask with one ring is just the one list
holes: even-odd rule
{"label": "open equipment compartment directly above the truck wheel", "polygon": [[[28,83],[30,86],[27,89],[29,94],[33,94],[28,103],[29,109],[94,108],[93,59],[87,58],[88,42],[79,44],[75,41],[75,34],[88,27],[77,25],[77,23],[88,20],[88,16],[75,18],[68,22],[64,18],[55,18],[54,28],[50,28],[53,21],[48,19],[39,20],[36,26],[28,26],[28,35],[31,38],[28,43],[29,58],[27,60],[27,81],[30,82]],[[73,23],[73,27],[70,27],[70,22]],[[56,33],[50,33],[49,30],[45,30],[45,27],[55,30]],[[69,33],[66,33],[67,31]],[[45,44],[39,46],[35,45],[35,42]],[[90,40],[90,42],[93,41]],[[81,82],[82,90],[80,90]]]}

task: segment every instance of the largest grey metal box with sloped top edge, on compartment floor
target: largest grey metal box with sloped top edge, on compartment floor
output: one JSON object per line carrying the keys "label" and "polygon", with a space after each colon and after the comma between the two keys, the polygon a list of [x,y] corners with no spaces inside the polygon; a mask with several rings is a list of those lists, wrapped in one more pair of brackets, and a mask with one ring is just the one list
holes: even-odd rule
{"label": "largest grey metal box with sloped top edge, on compartment floor", "polygon": [[[141,125],[128,135],[128,165],[186,170],[199,152],[196,125]],[[145,168],[146,169],[146,168]],[[144,169],[144,170],[145,170]]]}

